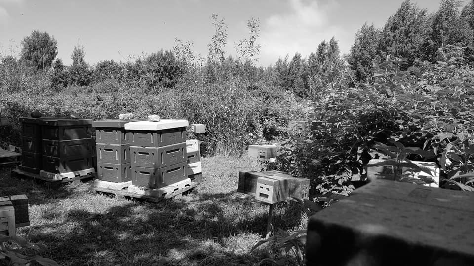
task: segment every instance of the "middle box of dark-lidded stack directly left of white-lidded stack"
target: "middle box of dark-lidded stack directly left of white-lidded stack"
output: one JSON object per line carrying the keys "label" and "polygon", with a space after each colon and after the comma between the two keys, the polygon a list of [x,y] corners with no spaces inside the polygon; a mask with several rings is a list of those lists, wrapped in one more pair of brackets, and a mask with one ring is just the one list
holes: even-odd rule
{"label": "middle box of dark-lidded stack directly left of white-lidded stack", "polygon": [[96,143],[97,162],[110,164],[130,163],[130,145]]}

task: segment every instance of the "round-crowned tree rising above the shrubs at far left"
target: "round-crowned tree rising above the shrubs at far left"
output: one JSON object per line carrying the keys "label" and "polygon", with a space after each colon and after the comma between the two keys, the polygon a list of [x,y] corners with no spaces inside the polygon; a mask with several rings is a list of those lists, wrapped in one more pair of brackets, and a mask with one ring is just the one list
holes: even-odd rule
{"label": "round-crowned tree rising above the shrubs at far left", "polygon": [[22,41],[21,61],[37,70],[51,67],[58,54],[57,41],[47,32],[35,30]]}

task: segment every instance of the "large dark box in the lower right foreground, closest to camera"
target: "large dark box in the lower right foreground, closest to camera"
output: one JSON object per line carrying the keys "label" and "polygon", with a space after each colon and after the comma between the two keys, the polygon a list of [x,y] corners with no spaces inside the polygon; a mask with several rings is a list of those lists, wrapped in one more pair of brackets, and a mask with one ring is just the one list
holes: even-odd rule
{"label": "large dark box in the lower right foreground, closest to camera", "polygon": [[470,192],[374,180],[311,217],[307,265],[474,265],[472,202]]}

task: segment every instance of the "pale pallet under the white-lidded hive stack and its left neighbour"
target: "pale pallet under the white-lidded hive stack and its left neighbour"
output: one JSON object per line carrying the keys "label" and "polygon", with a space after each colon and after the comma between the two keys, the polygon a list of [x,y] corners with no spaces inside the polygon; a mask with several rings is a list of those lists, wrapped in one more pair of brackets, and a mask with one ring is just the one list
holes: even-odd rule
{"label": "pale pallet under the white-lidded hive stack and its left neighbour", "polygon": [[126,199],[134,198],[158,202],[163,199],[170,199],[182,195],[184,192],[195,188],[198,184],[199,183],[197,182],[191,182],[188,178],[187,180],[184,180],[184,182],[181,181],[158,189],[142,189],[129,185],[128,187],[123,187],[123,189],[113,189],[105,186],[91,186],[89,190],[97,193],[112,194],[116,197],[124,197]]}

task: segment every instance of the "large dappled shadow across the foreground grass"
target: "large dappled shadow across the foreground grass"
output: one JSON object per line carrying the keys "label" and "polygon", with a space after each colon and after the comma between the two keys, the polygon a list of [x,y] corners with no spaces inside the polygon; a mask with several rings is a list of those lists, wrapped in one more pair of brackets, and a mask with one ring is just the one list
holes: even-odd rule
{"label": "large dappled shadow across the foreground grass", "polygon": [[[252,197],[230,192],[118,203],[103,212],[50,209],[43,218],[61,222],[32,226],[27,238],[49,246],[41,255],[61,265],[252,265],[268,256],[263,249],[248,254],[268,215],[268,206]],[[292,213],[291,206],[278,208]],[[273,217],[290,229],[286,218]]]}

